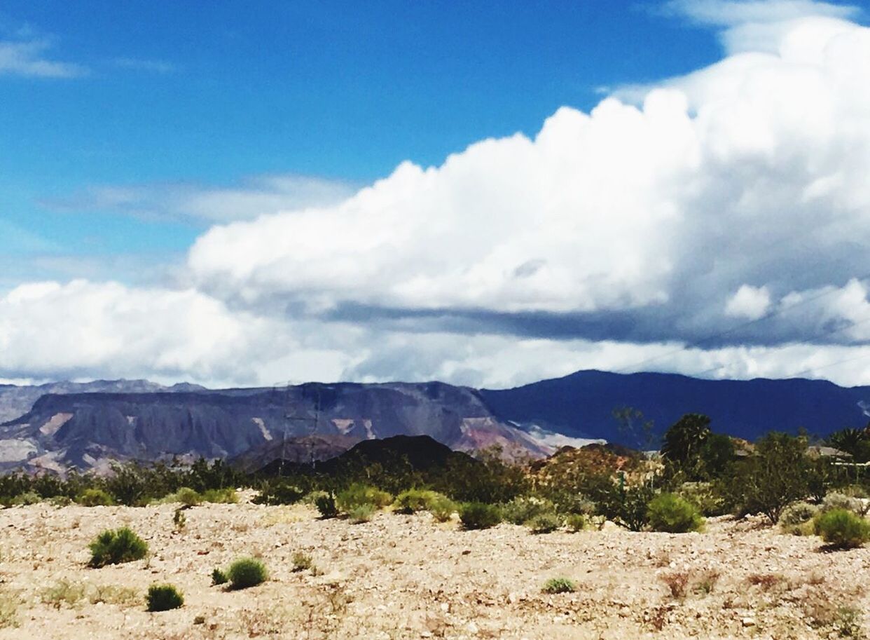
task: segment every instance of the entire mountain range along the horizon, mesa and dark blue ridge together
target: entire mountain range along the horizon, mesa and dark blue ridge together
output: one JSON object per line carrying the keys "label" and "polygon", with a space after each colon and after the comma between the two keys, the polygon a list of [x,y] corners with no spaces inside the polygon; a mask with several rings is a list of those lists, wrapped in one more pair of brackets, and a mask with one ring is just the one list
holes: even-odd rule
{"label": "entire mountain range along the horizon, mesa and dark blue ridge together", "polygon": [[[652,421],[620,429],[613,409]],[[212,390],[149,381],[0,386],[0,469],[75,466],[101,472],[115,460],[224,458],[243,468],[283,458],[328,460],[360,441],[429,435],[458,451],[498,445],[507,457],[543,457],[563,445],[610,441],[655,448],[682,414],[753,440],[770,430],[827,435],[863,426],[870,387],[828,381],[712,381],[676,374],[580,371],[512,389],[441,382]],[[645,441],[647,440],[647,441]]]}

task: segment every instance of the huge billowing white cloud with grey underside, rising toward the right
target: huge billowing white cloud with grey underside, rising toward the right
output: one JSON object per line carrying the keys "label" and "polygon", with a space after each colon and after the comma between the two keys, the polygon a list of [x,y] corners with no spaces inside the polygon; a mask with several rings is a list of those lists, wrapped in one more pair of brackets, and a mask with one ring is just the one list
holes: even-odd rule
{"label": "huge billowing white cloud with grey underside, rising toward the right", "polygon": [[[584,327],[575,337],[622,323],[622,339],[649,342],[812,337],[852,316],[827,294],[780,301],[870,275],[870,30],[829,20],[639,106],[562,108],[534,138],[403,163],[338,205],[215,226],[191,249],[193,282],[309,316],[538,314]],[[779,311],[731,331],[728,301],[747,282]]]}

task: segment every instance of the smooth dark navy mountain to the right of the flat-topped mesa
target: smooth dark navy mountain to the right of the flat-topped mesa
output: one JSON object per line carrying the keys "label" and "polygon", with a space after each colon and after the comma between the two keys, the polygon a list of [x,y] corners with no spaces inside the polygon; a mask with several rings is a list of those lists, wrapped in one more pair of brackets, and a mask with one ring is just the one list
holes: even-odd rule
{"label": "smooth dark navy mountain to the right of the flat-topped mesa", "polygon": [[713,431],[750,441],[768,431],[794,433],[801,427],[824,436],[843,427],[863,427],[870,415],[870,387],[838,387],[804,379],[700,380],[678,374],[579,371],[479,393],[500,421],[630,447],[644,443],[642,438],[620,433],[614,408],[639,409],[654,421],[657,436],[683,414],[699,413],[712,418]]}

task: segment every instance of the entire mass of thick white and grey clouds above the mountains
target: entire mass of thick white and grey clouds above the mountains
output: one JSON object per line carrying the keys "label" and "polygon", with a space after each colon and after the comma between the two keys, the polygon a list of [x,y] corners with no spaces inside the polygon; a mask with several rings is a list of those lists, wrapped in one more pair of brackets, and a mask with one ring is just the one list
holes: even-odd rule
{"label": "entire mass of thick white and grey clouds above the mountains", "polygon": [[204,232],[178,291],[19,287],[0,377],[870,383],[870,30],[823,3],[671,8],[728,55],[335,204],[255,205]]}

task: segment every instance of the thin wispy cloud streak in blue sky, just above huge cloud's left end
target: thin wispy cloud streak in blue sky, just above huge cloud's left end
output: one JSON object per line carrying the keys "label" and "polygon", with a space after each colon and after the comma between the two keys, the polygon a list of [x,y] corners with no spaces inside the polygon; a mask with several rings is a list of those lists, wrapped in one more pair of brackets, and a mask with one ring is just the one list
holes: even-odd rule
{"label": "thin wispy cloud streak in blue sky, just above huge cloud's left end", "polygon": [[255,176],[238,185],[96,185],[65,198],[42,199],[40,204],[55,211],[117,212],[140,219],[202,224],[331,205],[354,191],[352,185],[339,180],[284,174]]}

